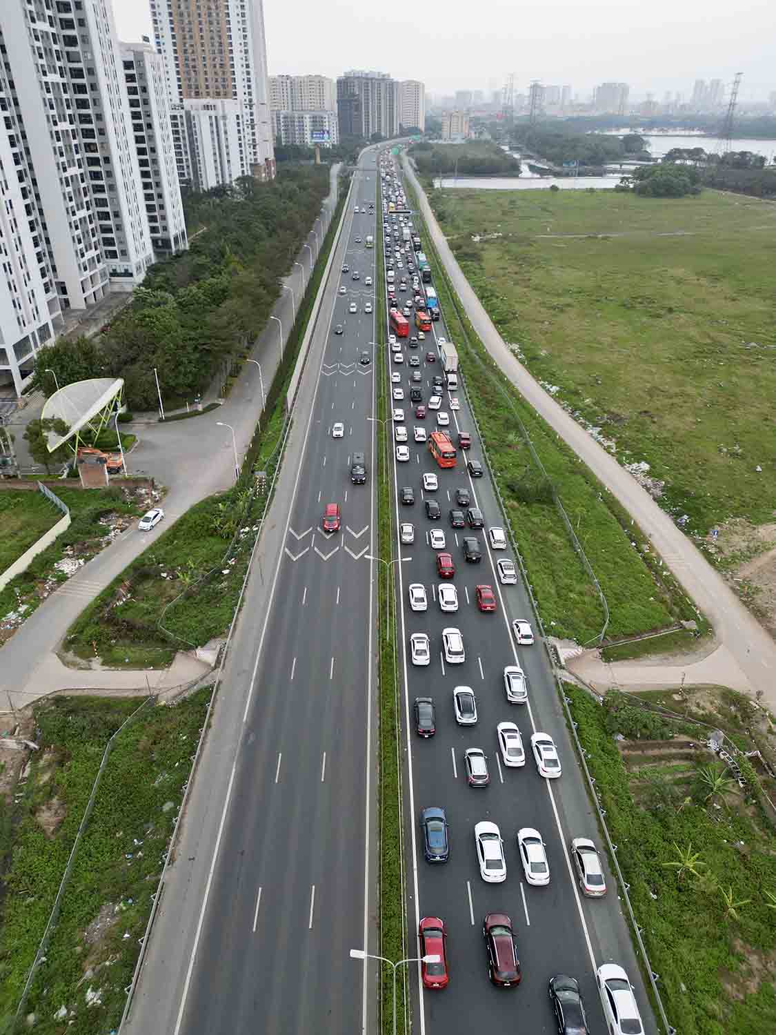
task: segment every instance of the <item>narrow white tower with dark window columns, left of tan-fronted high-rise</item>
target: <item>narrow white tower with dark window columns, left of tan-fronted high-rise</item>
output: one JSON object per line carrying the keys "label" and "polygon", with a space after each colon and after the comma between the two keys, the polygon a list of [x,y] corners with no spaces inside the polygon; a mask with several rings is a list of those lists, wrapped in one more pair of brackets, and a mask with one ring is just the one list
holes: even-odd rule
{"label": "narrow white tower with dark window columns, left of tan-fronted high-rise", "polygon": [[165,62],[148,42],[121,43],[121,60],[151,245],[160,258],[188,247]]}

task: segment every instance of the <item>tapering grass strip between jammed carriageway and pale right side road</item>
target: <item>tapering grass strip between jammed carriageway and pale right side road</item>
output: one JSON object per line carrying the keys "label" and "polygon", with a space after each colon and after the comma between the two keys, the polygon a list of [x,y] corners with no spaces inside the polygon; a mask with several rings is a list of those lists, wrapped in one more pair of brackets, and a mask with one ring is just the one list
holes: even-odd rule
{"label": "tapering grass strip between jammed carriageway and pale right side road", "polygon": [[[423,231],[435,267],[452,341],[458,346],[467,390],[482,431],[494,473],[526,562],[534,596],[549,634],[578,643],[596,638],[604,622],[595,586],[575,552],[551,496],[521,436],[517,417],[556,486],[569,521],[609,608],[607,635],[658,629],[678,618],[704,626],[656,558],[639,548],[645,538],[611,495],[525,403],[490,360],[452,295]],[[632,543],[635,543],[632,545]]]}

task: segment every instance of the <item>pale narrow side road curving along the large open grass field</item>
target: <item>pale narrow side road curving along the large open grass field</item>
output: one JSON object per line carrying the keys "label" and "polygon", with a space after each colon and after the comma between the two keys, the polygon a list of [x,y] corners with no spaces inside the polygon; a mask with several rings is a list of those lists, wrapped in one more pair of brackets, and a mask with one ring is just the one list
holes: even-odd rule
{"label": "pale narrow side road curving along the large open grass field", "polygon": [[776,707],[776,644],[652,497],[517,361],[458,266],[407,156],[402,155],[401,160],[420,200],[434,244],[488,353],[526,401],[627,509],[663,563],[708,616],[720,644],[724,670],[737,670],[737,685],[749,693],[762,692],[765,702]]}

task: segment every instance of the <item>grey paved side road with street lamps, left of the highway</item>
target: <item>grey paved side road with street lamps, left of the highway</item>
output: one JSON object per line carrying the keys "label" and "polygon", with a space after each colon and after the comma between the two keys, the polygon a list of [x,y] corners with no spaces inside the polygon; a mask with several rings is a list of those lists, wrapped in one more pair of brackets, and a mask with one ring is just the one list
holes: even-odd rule
{"label": "grey paved side road with street lamps, left of the highway", "polygon": [[[337,171],[338,167],[332,167],[327,198],[330,211],[333,211],[336,200]],[[305,262],[306,269],[305,255],[303,247],[297,258]],[[299,277],[292,275],[287,279],[300,298]],[[281,292],[273,315],[280,321],[283,338],[293,325],[293,306],[291,292]],[[264,388],[269,390],[280,358],[276,320],[268,321],[253,346],[251,358],[261,363]],[[255,363],[246,363],[229,400],[217,410],[191,420],[155,424],[142,430],[141,441],[132,450],[131,473],[148,474],[169,486],[162,502],[165,521],[151,532],[139,532],[137,525],[124,532],[53,593],[0,648],[0,707],[8,702],[8,694],[14,708],[23,708],[59,688],[51,682],[57,672],[51,655],[86,604],[195,503],[233,483],[232,434],[228,427],[217,426],[216,421],[234,427],[237,453],[241,460],[261,413],[259,369]],[[84,672],[81,675],[84,677],[83,686],[111,689],[115,685],[120,689],[127,685],[125,674],[119,672]],[[136,685],[142,687],[143,682],[141,680]],[[64,685],[71,688],[73,684],[68,680]]]}

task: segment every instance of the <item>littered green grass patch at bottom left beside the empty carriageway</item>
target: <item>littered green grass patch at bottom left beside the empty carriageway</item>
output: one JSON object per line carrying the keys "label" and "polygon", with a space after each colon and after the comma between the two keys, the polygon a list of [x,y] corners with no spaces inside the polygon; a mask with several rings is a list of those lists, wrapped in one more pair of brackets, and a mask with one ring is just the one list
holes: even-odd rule
{"label": "littered green grass patch at bottom left beside the empty carriageway", "polygon": [[[74,1010],[68,1030],[103,1035],[118,1027],[209,694],[208,688],[171,708],[146,708],[115,741],[25,1009],[36,1014],[42,1035],[64,1030],[54,1019],[62,1005]],[[16,808],[2,900],[0,1017],[16,1011],[106,743],[140,704],[52,698],[35,708],[41,749]],[[168,802],[172,807],[162,809]],[[47,814],[61,818],[48,832],[39,822]],[[89,945],[85,928],[106,904],[117,908],[114,922]],[[88,968],[94,976],[84,980]],[[90,986],[101,989],[101,1006],[87,1008]]]}

